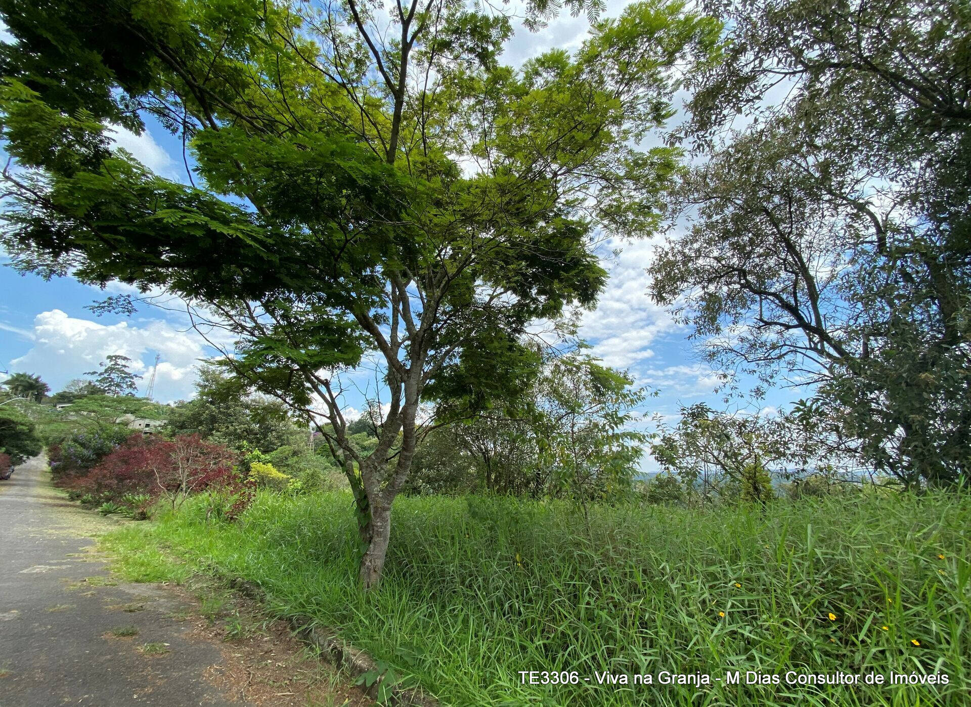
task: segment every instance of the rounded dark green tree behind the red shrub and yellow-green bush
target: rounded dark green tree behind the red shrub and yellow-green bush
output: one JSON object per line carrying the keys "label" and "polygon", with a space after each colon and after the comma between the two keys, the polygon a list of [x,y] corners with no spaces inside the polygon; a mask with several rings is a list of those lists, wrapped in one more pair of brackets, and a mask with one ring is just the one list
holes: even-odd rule
{"label": "rounded dark green tree behind the red shrub and yellow-green bush", "polygon": [[[197,434],[234,450],[272,452],[290,443],[293,422],[286,406],[264,395],[253,395],[242,381],[218,367],[197,369],[196,396],[174,408],[165,430],[172,435]],[[306,432],[302,433],[306,439]]]}

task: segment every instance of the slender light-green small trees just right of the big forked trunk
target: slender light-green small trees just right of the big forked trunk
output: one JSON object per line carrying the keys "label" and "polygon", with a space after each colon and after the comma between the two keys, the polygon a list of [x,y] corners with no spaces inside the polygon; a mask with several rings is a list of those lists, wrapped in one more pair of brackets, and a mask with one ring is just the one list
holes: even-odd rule
{"label": "slender light-green small trees just right of the big forked trunk", "polygon": [[[625,374],[585,353],[585,345],[544,358],[518,404],[432,431],[417,453],[423,491],[616,500],[630,488],[646,436],[634,409],[645,391]],[[510,401],[512,402],[512,401]],[[450,420],[450,402],[437,420]]]}

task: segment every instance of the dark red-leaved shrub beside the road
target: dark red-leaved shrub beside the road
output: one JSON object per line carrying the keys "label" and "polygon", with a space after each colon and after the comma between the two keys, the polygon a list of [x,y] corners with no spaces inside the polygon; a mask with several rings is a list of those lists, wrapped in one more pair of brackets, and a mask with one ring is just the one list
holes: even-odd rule
{"label": "dark red-leaved shrub beside the road", "polygon": [[69,482],[73,490],[97,497],[124,493],[163,496],[173,507],[189,493],[218,489],[243,491],[235,471],[237,455],[198,435],[174,439],[133,435],[84,476]]}

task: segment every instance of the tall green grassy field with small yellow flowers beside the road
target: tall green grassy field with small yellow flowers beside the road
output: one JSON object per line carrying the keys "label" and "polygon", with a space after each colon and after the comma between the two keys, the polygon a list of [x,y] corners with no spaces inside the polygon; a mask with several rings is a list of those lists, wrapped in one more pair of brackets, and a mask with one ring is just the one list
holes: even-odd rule
{"label": "tall green grassy field with small yellow flowers beside the road", "polygon": [[[588,525],[567,505],[399,498],[368,596],[350,496],[261,493],[232,524],[206,522],[202,500],[107,542],[146,580],[186,571],[158,546],[244,576],[274,610],[338,628],[446,704],[971,703],[967,496],[781,501],[764,515],[630,505]],[[521,670],[580,684],[523,685]],[[742,684],[726,685],[735,670]],[[745,685],[750,670],[780,684]],[[599,685],[605,671],[653,684]],[[712,684],[661,685],[661,671]],[[787,671],[948,685],[787,685]]]}

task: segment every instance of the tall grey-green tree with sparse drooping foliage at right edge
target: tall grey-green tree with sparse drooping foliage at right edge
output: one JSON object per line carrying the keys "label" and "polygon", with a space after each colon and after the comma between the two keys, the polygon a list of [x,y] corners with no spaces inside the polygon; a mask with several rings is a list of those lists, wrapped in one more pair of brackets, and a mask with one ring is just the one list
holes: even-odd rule
{"label": "tall grey-green tree with sparse drooping foliage at right edge", "polygon": [[[958,481],[971,463],[964,6],[709,7],[731,31],[725,61],[692,73],[679,137],[698,166],[671,204],[692,224],[651,266],[654,299],[721,368],[816,385],[806,404],[845,455],[908,485]],[[739,113],[748,127],[729,130]]]}

